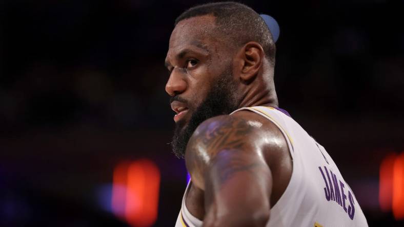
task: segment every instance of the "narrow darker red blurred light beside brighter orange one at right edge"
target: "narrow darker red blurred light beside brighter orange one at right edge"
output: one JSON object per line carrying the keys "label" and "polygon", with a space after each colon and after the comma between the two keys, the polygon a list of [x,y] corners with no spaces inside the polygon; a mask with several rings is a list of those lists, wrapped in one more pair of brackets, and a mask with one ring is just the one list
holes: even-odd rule
{"label": "narrow darker red blurred light beside brighter orange one at right edge", "polygon": [[383,212],[391,211],[393,196],[393,167],[396,154],[387,155],[380,164],[379,205]]}

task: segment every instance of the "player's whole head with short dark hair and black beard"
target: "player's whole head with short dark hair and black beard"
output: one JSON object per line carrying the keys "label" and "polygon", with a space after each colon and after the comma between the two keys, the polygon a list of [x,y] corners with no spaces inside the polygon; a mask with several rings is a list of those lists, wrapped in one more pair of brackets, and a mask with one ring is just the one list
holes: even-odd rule
{"label": "player's whole head with short dark hair and black beard", "polygon": [[184,155],[193,131],[206,119],[253,104],[256,96],[274,94],[274,62],[271,33],[251,8],[212,3],[181,14],[166,57],[166,91],[177,113],[174,153]]}

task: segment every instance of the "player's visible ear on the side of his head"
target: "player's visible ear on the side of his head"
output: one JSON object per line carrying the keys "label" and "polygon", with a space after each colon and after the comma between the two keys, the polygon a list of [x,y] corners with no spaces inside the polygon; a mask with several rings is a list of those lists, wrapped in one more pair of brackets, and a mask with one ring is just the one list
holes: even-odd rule
{"label": "player's visible ear on the side of his head", "polygon": [[264,49],[257,42],[248,42],[241,48],[239,54],[240,79],[250,81],[261,69],[264,60]]}

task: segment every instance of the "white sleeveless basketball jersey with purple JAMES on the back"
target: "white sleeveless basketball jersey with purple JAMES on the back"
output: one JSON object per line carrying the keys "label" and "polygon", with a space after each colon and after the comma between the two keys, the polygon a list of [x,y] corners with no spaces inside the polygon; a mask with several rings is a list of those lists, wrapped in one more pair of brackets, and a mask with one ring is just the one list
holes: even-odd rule
{"label": "white sleeveless basketball jersey with purple JAMES on the back", "polygon": [[[253,111],[274,123],[284,134],[293,159],[289,185],[271,208],[267,227],[368,226],[352,189],[330,155],[286,111],[264,106],[239,110]],[[202,226],[203,222],[185,205],[188,188],[189,184],[175,227]]]}

